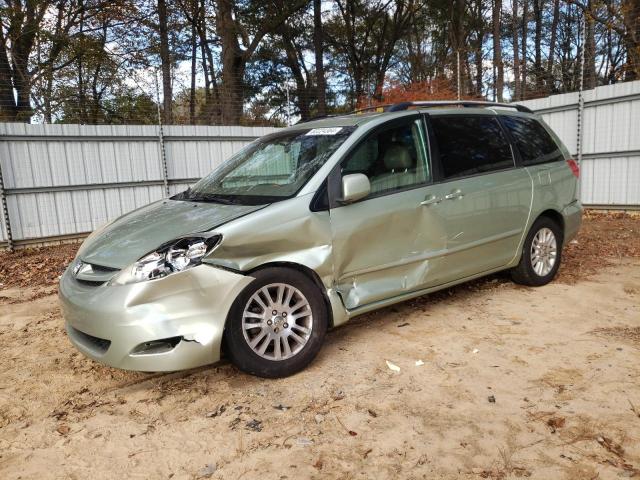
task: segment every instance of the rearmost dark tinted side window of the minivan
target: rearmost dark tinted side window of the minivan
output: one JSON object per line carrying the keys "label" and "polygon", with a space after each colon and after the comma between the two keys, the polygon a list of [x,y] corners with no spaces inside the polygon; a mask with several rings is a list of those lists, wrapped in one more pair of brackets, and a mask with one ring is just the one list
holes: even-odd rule
{"label": "rearmost dark tinted side window of the minivan", "polygon": [[505,115],[502,124],[513,137],[523,165],[564,160],[556,142],[537,120]]}

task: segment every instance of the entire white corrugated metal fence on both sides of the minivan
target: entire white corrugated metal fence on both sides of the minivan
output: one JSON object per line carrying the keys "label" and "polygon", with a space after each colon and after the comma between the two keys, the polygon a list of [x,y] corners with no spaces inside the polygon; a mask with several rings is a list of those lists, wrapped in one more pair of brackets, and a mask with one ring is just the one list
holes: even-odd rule
{"label": "entire white corrugated metal fence on both sides of the minivan", "polygon": [[[581,198],[640,208],[640,81],[584,92]],[[579,94],[521,102],[578,153]],[[183,190],[271,127],[0,124],[0,242],[77,237]],[[164,148],[162,148],[164,146]],[[1,183],[1,182],[0,182]]]}

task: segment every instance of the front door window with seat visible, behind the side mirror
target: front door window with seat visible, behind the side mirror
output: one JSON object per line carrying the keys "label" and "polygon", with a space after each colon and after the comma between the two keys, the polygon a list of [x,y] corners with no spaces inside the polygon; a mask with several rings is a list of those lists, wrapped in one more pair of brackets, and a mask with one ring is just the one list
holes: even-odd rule
{"label": "front door window with seat visible, behind the side mirror", "polygon": [[422,120],[369,136],[342,163],[342,175],[364,173],[371,193],[392,192],[431,180]]}

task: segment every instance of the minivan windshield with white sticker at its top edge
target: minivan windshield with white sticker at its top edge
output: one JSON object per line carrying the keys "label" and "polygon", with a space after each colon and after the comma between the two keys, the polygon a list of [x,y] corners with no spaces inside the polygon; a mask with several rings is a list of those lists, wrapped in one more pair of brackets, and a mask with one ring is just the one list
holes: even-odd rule
{"label": "minivan windshield with white sticker at its top edge", "polygon": [[354,127],[314,128],[260,138],[173,198],[244,205],[290,198],[353,130]]}

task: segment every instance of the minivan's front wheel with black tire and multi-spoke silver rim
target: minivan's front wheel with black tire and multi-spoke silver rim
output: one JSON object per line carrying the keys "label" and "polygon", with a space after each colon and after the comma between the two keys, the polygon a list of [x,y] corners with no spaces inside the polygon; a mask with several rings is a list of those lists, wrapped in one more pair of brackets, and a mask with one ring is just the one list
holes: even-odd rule
{"label": "minivan's front wheel with black tire and multi-spoke silver rim", "polygon": [[265,268],[234,301],[225,330],[227,354],[242,371],[260,377],[293,375],[318,354],[327,308],[304,273]]}

